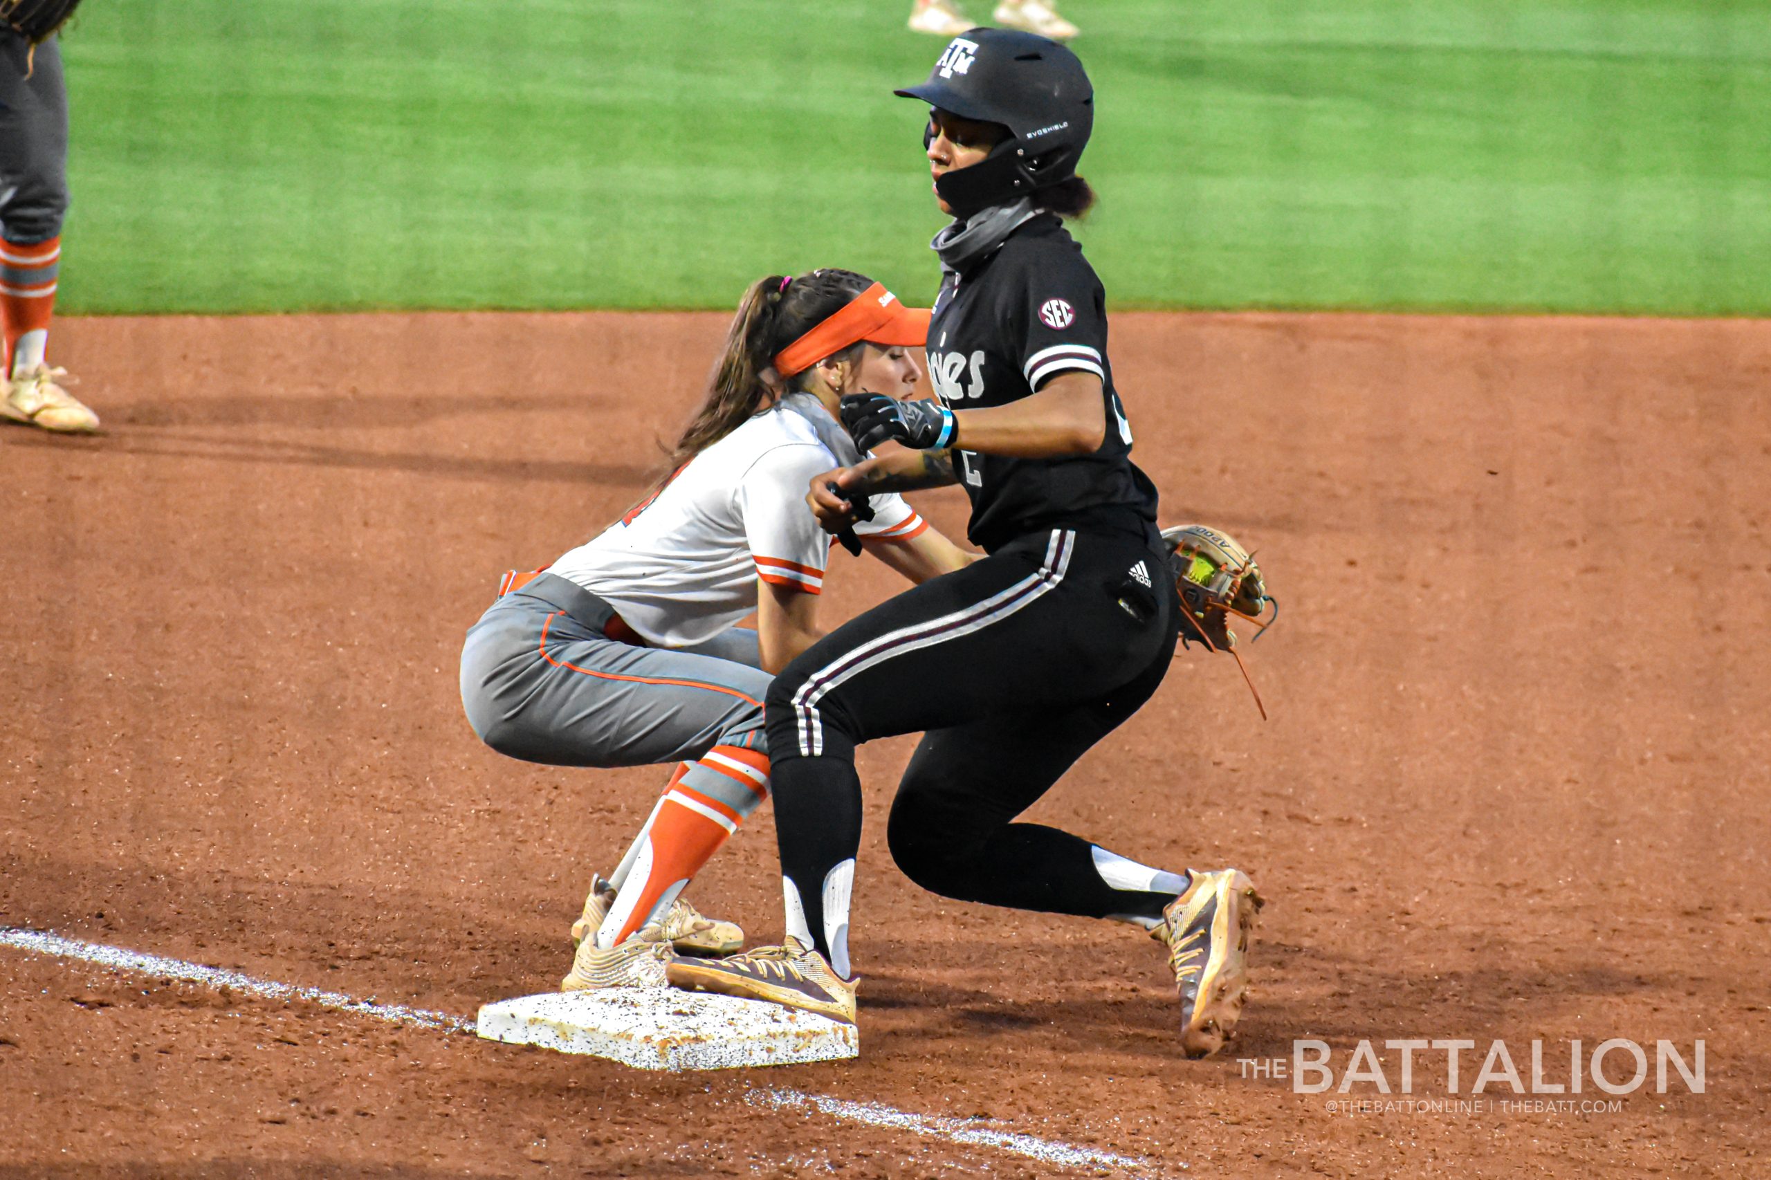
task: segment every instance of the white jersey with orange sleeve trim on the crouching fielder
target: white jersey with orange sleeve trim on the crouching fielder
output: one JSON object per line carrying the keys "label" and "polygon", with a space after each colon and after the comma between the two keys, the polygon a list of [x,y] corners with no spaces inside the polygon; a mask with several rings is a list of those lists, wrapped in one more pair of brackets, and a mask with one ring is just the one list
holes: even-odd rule
{"label": "white jersey with orange sleeve trim on the crouching fielder", "polygon": [[[769,409],[689,461],[650,500],[547,572],[613,606],[646,643],[694,647],[756,609],[758,578],[824,588],[831,535],[806,505],[811,478],[847,466],[792,409]],[[873,496],[861,537],[909,540],[928,524]]]}

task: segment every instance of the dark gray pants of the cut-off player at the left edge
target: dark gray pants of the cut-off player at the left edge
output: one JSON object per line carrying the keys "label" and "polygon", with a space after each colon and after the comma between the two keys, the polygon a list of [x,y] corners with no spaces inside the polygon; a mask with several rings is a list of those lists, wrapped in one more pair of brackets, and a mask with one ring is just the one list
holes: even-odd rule
{"label": "dark gray pants of the cut-off player at the left edge", "polygon": [[62,50],[50,37],[37,46],[34,69],[28,58],[30,43],[0,30],[0,237],[19,246],[60,234],[67,213]]}

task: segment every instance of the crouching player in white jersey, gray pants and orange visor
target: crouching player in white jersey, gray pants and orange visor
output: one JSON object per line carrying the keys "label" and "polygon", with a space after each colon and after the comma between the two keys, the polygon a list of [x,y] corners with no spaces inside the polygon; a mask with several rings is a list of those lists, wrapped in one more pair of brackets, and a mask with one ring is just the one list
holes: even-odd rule
{"label": "crouching player in white jersey, gray pants and orange visor", "polygon": [[[831,537],[806,503],[861,459],[843,393],[909,395],[928,312],[850,271],[770,276],[746,294],[707,402],[650,496],[545,571],[508,574],[468,633],[460,693],[492,749],[551,765],[677,762],[664,796],[572,928],[563,990],[664,983],[671,948],[742,946],[680,898],[769,797],[763,698],[822,631]],[[857,523],[912,581],[969,563],[898,496]],[[756,613],[756,629],[735,624]]]}

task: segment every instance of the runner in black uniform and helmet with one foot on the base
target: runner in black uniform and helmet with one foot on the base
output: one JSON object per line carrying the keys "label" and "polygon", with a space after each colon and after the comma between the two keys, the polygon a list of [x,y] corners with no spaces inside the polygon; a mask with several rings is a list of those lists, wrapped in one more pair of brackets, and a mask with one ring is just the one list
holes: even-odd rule
{"label": "runner in black uniform and helmet with one foot on the base", "polygon": [[767,696],[788,939],[669,967],[680,987],[854,1019],[848,911],[861,845],[859,742],[926,730],[893,804],[900,868],[946,897],[1133,921],[1169,946],[1183,1047],[1222,1047],[1240,1015],[1259,907],[1236,870],[1164,872],[1013,822],[1162,684],[1179,602],[1156,489],[1132,461],[1105,298],[1063,227],[1093,90],[1063,46],[995,28],[955,39],[928,82],[935,195],[956,220],[933,248],[928,330],[939,402],[843,400],[870,450],[813,480],[827,528],[870,493],[960,484],[986,558],[834,631]]}

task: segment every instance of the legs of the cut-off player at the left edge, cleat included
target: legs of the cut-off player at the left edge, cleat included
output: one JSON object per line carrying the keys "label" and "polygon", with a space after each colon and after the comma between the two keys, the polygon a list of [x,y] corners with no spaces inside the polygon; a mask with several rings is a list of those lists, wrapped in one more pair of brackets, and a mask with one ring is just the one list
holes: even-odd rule
{"label": "legs of the cut-off player at the left edge, cleat included", "polygon": [[[5,397],[0,416],[44,431],[90,432],[96,413],[58,384],[46,360],[67,213],[67,92],[55,41],[0,32],[0,319]],[[27,78],[25,74],[30,73]]]}

